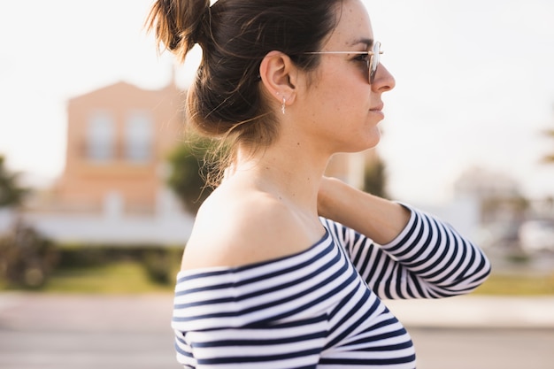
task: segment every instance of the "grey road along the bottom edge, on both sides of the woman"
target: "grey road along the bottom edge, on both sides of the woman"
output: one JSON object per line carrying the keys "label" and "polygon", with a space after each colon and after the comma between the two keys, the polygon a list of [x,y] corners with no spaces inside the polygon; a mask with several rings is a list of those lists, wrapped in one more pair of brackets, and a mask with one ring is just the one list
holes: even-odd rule
{"label": "grey road along the bottom edge, on both sides of the woman", "polygon": [[[409,328],[419,369],[552,369],[550,329]],[[0,331],[3,369],[179,369],[157,333]]]}

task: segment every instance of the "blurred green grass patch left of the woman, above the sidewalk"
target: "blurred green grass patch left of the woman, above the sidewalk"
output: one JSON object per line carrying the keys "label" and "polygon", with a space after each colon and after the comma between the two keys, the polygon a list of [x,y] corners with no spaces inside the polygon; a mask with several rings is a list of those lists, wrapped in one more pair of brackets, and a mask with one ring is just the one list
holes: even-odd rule
{"label": "blurred green grass patch left of the woman, above the sidewalk", "polygon": [[138,262],[64,269],[54,273],[44,292],[91,294],[142,294],[172,292],[173,284],[161,285],[150,280]]}

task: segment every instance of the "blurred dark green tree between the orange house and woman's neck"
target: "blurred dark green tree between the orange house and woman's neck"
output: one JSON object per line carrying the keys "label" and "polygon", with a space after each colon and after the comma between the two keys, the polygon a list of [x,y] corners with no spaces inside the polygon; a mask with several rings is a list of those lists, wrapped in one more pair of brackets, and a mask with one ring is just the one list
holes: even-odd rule
{"label": "blurred dark green tree between the orange house and woman's neck", "polygon": [[167,184],[192,213],[212,193],[212,188],[206,185],[206,178],[214,168],[212,149],[211,140],[196,138],[176,147],[168,159],[172,170]]}

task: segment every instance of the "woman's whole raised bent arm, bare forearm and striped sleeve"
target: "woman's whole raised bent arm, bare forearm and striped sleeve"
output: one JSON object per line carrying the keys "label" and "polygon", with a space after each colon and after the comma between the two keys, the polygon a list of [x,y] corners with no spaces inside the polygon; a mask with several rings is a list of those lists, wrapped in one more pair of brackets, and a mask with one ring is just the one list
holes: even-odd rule
{"label": "woman's whole raised bent arm, bare forearm and striped sleeve", "polygon": [[462,295],[489,276],[489,260],[450,225],[341,181],[324,182],[321,216],[331,219],[327,229],[378,296]]}

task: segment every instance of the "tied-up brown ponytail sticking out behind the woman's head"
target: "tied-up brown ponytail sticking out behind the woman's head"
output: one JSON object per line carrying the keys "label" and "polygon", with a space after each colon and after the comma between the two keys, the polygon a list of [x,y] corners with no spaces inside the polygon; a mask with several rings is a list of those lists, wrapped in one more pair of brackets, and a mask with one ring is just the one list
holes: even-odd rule
{"label": "tied-up brown ponytail sticking out behind the woman's head", "polygon": [[181,61],[209,26],[210,0],[158,0],[146,19],[158,49],[172,51]]}

